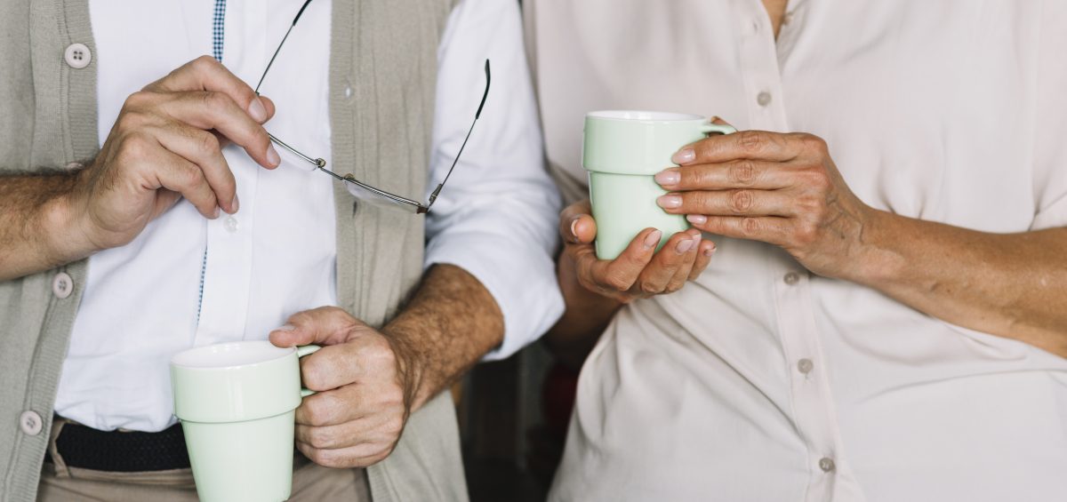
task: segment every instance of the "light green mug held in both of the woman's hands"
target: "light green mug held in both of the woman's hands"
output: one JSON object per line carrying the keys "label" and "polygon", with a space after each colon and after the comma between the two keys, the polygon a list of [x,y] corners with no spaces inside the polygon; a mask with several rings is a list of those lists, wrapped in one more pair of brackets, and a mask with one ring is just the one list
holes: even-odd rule
{"label": "light green mug held in both of the woman's hands", "polygon": [[736,132],[700,115],[608,110],[586,115],[582,165],[589,172],[589,199],[596,220],[596,257],[616,259],[643,229],[663,232],[658,249],[689,228],[684,215],[656,205],[667,193],[656,173],[678,165],[671,157],[710,133]]}

